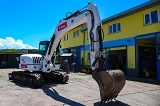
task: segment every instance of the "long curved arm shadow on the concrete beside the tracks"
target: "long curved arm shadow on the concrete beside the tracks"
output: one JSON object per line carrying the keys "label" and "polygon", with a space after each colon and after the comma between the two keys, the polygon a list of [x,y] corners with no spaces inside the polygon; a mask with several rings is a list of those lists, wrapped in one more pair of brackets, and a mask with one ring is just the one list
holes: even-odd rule
{"label": "long curved arm shadow on the concrete beside the tracks", "polygon": [[75,102],[73,100],[70,100],[68,98],[65,98],[65,97],[59,95],[59,93],[56,90],[54,90],[53,88],[51,88],[48,85],[43,86],[42,90],[46,95],[50,96],[51,98],[53,98],[56,101],[59,101],[59,102],[62,102],[64,104],[66,104],[66,105],[69,105],[69,106],[85,106],[81,103]]}

